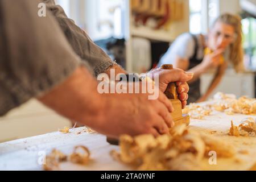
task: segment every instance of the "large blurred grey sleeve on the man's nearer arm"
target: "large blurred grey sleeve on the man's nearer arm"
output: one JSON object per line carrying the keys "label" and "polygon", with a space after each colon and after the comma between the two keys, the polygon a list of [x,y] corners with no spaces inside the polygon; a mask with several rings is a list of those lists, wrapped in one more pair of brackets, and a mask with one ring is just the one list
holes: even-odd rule
{"label": "large blurred grey sleeve on the man's nearer arm", "polygon": [[0,1],[0,115],[48,92],[81,65],[51,13],[38,16],[38,4]]}

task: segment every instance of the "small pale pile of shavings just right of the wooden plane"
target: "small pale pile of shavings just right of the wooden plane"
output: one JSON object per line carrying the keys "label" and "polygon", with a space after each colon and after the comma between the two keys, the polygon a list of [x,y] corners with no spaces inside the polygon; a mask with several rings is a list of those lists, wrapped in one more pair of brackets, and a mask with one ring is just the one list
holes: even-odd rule
{"label": "small pale pile of shavings just right of the wooden plane", "polygon": [[183,114],[189,114],[192,119],[204,119],[205,116],[212,114],[212,106],[189,104],[185,109],[183,109]]}

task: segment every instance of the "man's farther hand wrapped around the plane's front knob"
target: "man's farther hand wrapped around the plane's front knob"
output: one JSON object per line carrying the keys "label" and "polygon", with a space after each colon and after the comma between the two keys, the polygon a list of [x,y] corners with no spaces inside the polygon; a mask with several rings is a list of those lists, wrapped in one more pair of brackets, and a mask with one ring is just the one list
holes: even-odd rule
{"label": "man's farther hand wrapped around the plane's front knob", "polygon": [[151,75],[152,79],[154,79],[155,74],[159,74],[159,89],[162,92],[166,91],[170,82],[176,83],[177,93],[179,94],[179,99],[184,109],[187,105],[189,91],[187,81],[193,78],[193,73],[185,72],[182,69],[165,70],[161,68],[154,69],[149,72],[149,75]]}

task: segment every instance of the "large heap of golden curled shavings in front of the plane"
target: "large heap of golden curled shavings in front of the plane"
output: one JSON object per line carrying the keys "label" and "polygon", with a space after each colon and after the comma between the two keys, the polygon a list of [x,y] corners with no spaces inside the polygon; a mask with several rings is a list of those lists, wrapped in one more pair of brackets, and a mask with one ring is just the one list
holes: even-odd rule
{"label": "large heap of golden curled shavings in front of the plane", "polygon": [[120,152],[110,155],[138,170],[201,170],[202,161],[216,151],[219,158],[233,158],[234,147],[221,139],[201,134],[185,125],[175,126],[170,135],[120,138]]}

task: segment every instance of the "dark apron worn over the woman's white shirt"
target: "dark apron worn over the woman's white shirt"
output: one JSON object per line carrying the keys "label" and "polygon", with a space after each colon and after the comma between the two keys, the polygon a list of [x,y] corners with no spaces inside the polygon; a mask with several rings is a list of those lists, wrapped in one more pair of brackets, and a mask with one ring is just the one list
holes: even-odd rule
{"label": "dark apron worn over the woman's white shirt", "polygon": [[[195,53],[193,55],[193,57],[191,59],[189,59],[189,69],[192,69],[194,67],[196,67],[197,65],[199,65],[203,59],[197,59],[197,52],[199,49],[199,42],[197,41],[196,35],[192,35],[194,41],[195,41]],[[189,70],[188,69],[188,70]],[[195,82],[193,82],[192,84],[189,84],[189,92],[188,92],[188,104],[194,103],[197,100],[199,100],[199,98],[201,97],[201,93],[200,93],[200,78],[197,79]]]}

